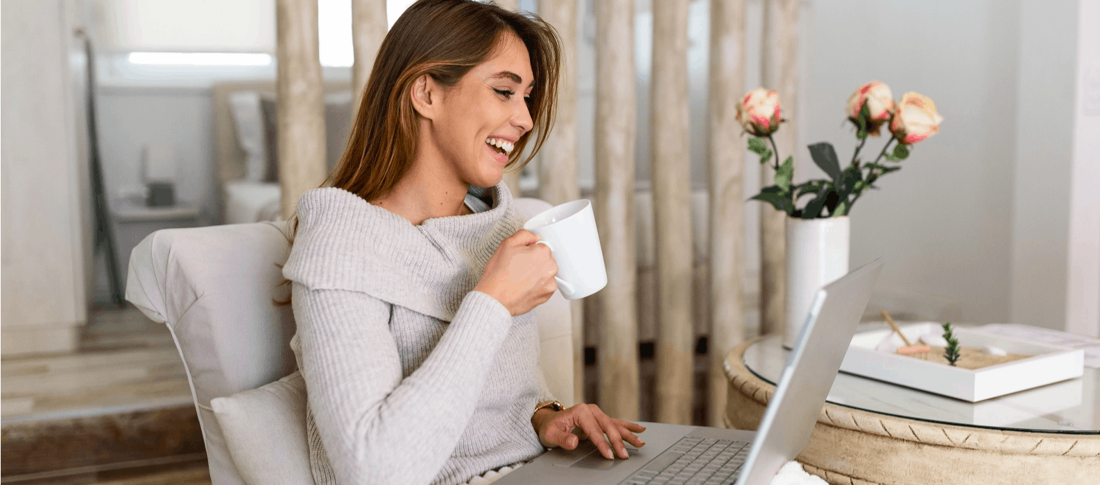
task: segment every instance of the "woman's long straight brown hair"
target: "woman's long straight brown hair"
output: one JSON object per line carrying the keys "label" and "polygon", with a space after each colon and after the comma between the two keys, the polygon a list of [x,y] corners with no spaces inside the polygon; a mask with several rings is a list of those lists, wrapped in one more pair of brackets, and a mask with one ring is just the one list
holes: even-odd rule
{"label": "woman's long straight brown hair", "polygon": [[[516,142],[505,167],[527,165],[542,147],[556,118],[561,69],[557,31],[538,15],[512,12],[494,2],[419,0],[382,41],[348,144],[321,186],[342,188],[365,200],[389,194],[416,158],[420,130],[411,100],[416,79],[427,74],[440,86],[453,87],[493,54],[505,33],[524,42],[535,76],[526,101],[534,129]],[[520,159],[532,133],[535,145]],[[297,216],[293,219],[292,243],[298,232]]]}

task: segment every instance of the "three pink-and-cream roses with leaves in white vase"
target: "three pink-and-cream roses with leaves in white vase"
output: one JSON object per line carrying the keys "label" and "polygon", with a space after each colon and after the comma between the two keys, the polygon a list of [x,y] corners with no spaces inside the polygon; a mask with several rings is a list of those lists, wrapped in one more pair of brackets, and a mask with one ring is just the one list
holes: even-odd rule
{"label": "three pink-and-cream roses with leaves in white vase", "polygon": [[[790,348],[805,322],[814,294],[848,273],[848,213],[880,177],[901,169],[914,143],[939,131],[943,117],[927,97],[906,92],[897,103],[890,87],[870,81],[848,98],[845,109],[855,128],[856,148],[847,166],[840,165],[828,142],[810,145],[810,156],[828,178],[795,184],[794,158],[780,162],[772,134],[787,121],[779,95],[763,88],[749,91],[737,107],[737,118],[751,135],[748,148],[760,163],[776,170],[776,185],[752,197],[787,212],[787,322],[783,345]],[[878,155],[865,161],[864,146],[888,126],[890,137]],[[892,150],[891,150],[892,146]]]}

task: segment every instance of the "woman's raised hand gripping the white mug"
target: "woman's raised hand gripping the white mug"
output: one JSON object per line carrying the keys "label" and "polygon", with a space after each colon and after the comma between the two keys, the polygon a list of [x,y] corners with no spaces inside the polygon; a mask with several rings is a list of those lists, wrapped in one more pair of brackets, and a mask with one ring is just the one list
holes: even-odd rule
{"label": "woman's raised hand gripping the white mug", "polygon": [[558,263],[539,235],[516,231],[497,246],[474,290],[496,298],[513,317],[544,304],[558,289]]}

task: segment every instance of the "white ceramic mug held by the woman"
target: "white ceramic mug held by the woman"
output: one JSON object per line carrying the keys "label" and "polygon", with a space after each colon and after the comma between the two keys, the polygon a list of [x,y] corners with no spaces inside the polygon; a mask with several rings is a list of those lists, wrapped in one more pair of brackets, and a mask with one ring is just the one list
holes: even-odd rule
{"label": "white ceramic mug held by the woman", "polygon": [[607,286],[604,252],[596,217],[587,199],[574,200],[535,216],[524,229],[541,238],[558,263],[558,290],[569,300],[584,298]]}

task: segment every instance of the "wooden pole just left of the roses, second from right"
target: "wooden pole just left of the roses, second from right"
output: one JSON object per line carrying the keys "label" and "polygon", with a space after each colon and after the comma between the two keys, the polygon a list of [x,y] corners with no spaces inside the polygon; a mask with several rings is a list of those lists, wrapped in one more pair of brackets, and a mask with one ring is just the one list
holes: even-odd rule
{"label": "wooden pole just left of the roses, second from right", "polygon": [[723,426],[729,384],[725,355],[745,340],[745,136],[737,102],[745,92],[746,0],[711,1],[710,183],[711,335],[706,425]]}

